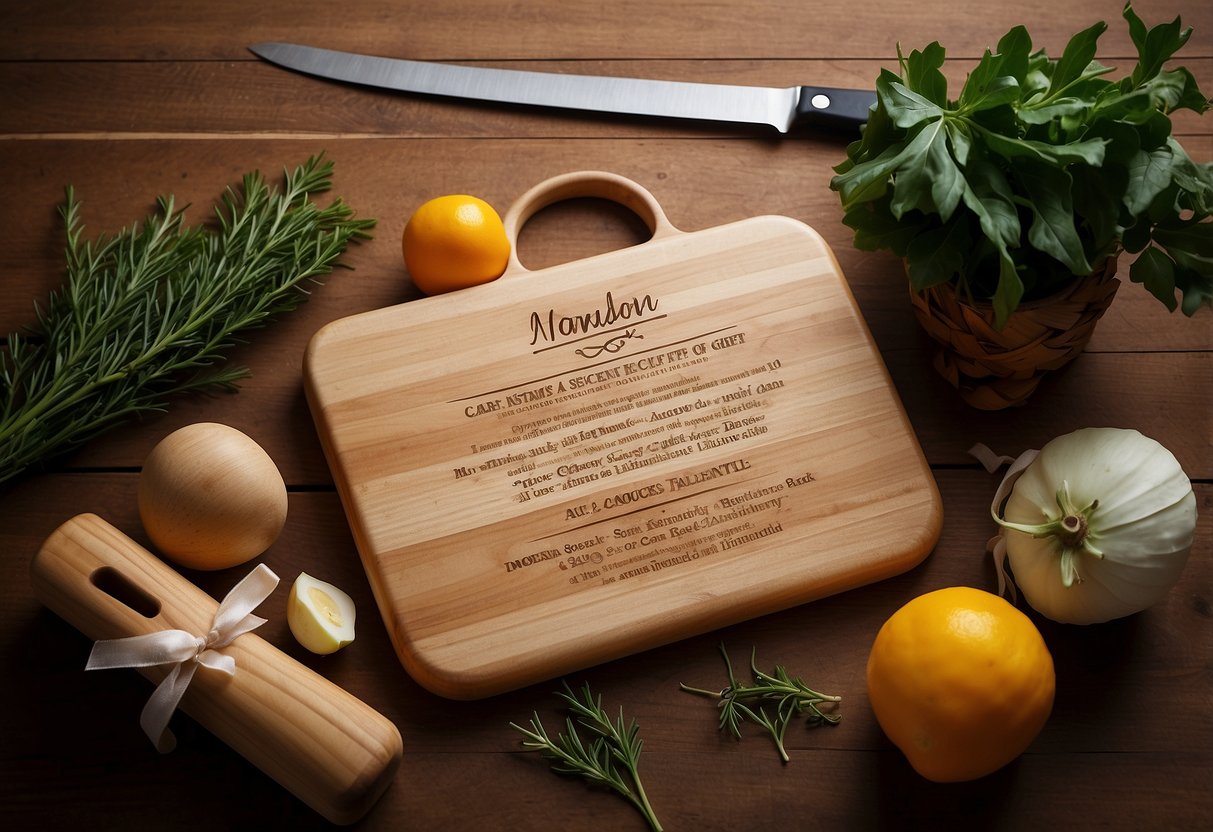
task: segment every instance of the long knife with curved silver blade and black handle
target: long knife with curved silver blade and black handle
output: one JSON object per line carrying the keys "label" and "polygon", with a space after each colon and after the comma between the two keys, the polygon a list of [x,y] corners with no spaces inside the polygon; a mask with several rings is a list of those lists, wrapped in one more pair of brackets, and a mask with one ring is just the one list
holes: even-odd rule
{"label": "long knife with curved silver blade and black handle", "polygon": [[858,131],[876,93],[820,86],[762,87],[573,75],[383,58],[266,42],[249,50],[274,64],[336,81],[400,92],[623,115]]}

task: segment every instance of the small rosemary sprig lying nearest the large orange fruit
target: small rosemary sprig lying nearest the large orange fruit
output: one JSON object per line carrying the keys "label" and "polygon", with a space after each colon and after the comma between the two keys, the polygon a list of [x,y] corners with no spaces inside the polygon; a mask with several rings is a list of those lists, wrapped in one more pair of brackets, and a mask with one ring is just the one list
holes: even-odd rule
{"label": "small rosemary sprig lying nearest the large orange fruit", "polygon": [[[842,696],[821,694],[809,688],[799,678],[788,676],[781,665],[775,665],[774,674],[763,673],[758,669],[757,650],[750,654],[750,669],[753,673],[753,684],[746,685],[738,682],[733,673],[733,662],[729,661],[729,651],[721,645],[721,655],[724,656],[724,666],[729,672],[729,685],[723,690],[704,690],[679,684],[682,690],[702,696],[712,696],[718,700],[721,708],[721,730],[728,729],[733,736],[741,739],[741,723],[748,719],[762,725],[775,741],[779,748],[779,757],[787,763],[791,758],[784,747],[784,735],[787,726],[799,714],[808,711],[808,725],[836,725],[842,716],[835,713]],[[768,713],[767,708],[773,707]]]}

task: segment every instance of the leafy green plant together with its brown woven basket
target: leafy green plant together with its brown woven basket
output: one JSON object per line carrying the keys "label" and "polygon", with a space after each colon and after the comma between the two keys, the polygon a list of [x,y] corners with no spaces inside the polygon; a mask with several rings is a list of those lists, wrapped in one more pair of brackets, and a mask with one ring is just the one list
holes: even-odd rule
{"label": "leafy green plant together with its brown woven basket", "polygon": [[1123,17],[1138,64],[1120,80],[1094,59],[1103,22],[1058,59],[1012,29],[955,99],[938,42],[899,49],[900,74],[881,73],[831,181],[855,246],[904,260],[919,321],[944,346],[935,366],[976,406],[1021,404],[1082,352],[1122,252],[1135,255],[1129,279],[1172,310],[1213,307],[1213,164],[1171,124],[1211,102],[1190,72],[1164,69],[1191,29],[1178,17],[1147,28],[1131,4]]}

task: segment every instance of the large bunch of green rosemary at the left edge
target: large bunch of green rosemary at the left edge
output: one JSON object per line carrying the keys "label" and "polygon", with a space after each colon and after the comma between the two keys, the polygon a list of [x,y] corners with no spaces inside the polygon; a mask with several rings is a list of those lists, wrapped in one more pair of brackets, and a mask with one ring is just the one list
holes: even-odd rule
{"label": "large bunch of green rosemary at the left edge", "polygon": [[318,207],[332,163],[286,171],[281,190],[258,172],[228,188],[212,227],[188,227],[172,196],[142,224],[81,239],[69,186],[59,209],[67,274],[38,325],[0,352],[0,483],[183,391],[234,389],[244,367],[217,367],[238,338],[298,307],[304,284],[337,264],[374,220],[334,200]]}

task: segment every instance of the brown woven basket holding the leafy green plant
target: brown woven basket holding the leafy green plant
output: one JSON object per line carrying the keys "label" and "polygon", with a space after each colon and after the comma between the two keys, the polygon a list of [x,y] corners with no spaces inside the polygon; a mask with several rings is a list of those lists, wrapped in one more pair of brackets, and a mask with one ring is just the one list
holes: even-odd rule
{"label": "brown woven basket holding the leafy green plant", "polygon": [[1055,295],[1021,304],[1002,330],[995,329],[989,303],[962,301],[947,284],[911,291],[918,323],[939,344],[935,370],[974,408],[1024,404],[1044,374],[1087,346],[1120,286],[1116,260],[1109,257]]}

